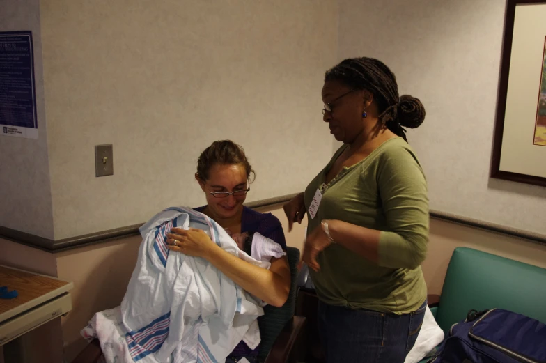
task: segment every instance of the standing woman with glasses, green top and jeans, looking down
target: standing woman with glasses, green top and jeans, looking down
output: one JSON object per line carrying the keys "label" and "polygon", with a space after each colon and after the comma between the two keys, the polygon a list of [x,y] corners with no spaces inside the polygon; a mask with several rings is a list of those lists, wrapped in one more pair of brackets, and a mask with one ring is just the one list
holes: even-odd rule
{"label": "standing woman with glasses, green top and jeans, looking down", "polygon": [[290,229],[307,213],[304,262],[320,299],[328,363],[402,363],[426,309],[421,263],[428,243],[423,170],[403,127],[425,118],[398,95],[377,59],[345,59],[326,72],[323,120],[343,146],[304,193],[286,203]]}

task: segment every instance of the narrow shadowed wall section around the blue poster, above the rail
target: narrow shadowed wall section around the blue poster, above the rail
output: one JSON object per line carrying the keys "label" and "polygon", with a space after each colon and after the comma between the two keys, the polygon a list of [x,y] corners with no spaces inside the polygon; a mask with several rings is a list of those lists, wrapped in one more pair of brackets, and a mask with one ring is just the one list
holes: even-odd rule
{"label": "narrow shadowed wall section around the blue poster, above the rail", "polygon": [[1,31],[32,31],[38,139],[0,134],[0,226],[53,238],[39,0],[0,0]]}

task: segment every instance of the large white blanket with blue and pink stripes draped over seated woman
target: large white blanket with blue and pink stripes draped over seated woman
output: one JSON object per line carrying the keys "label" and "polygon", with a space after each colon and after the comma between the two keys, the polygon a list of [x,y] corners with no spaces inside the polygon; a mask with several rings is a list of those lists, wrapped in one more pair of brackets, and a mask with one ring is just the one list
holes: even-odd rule
{"label": "large white blanket with blue and pink stripes draped over seated woman", "polygon": [[95,314],[82,330],[99,338],[107,362],[224,362],[241,340],[250,348],[260,343],[259,302],[203,258],[169,251],[165,233],[176,226],[203,229],[227,252],[270,267],[190,208],[155,215],[140,229],[139,259],[120,310]]}

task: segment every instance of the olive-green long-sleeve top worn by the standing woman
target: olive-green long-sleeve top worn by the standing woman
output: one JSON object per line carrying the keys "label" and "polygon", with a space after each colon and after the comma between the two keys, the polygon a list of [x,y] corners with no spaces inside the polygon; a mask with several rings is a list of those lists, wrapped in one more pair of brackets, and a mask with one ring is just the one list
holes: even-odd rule
{"label": "olive-green long-sleeve top worn by the standing woman", "polygon": [[343,170],[324,186],[325,176],[345,150],[341,146],[305,190],[309,210],[322,187],[322,201],[308,233],[322,219],[381,231],[379,263],[341,245],[318,256],[320,272],[311,270],[320,300],[327,304],[394,314],[415,311],[426,300],[421,263],[428,244],[428,197],[423,169],[401,138],[389,139],[364,160]]}

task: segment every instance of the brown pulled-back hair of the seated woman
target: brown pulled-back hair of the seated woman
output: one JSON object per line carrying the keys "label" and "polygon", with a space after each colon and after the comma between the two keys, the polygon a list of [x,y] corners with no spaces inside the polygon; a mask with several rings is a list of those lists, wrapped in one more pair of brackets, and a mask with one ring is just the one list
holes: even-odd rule
{"label": "brown pulled-back hair of the seated woman", "polygon": [[208,180],[208,172],[213,165],[241,164],[247,171],[247,178],[251,174],[256,178],[256,173],[252,170],[247,155],[244,155],[242,146],[235,144],[231,140],[214,141],[197,159],[197,176],[201,180]]}

